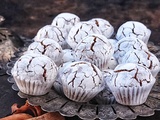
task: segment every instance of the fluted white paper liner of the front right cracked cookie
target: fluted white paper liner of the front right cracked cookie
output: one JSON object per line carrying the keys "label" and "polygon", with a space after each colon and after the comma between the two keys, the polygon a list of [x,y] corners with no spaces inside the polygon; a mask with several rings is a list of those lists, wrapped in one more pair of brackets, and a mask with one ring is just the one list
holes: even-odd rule
{"label": "fluted white paper liner of the front right cracked cookie", "polygon": [[146,86],[133,87],[110,87],[115,99],[118,103],[123,105],[140,105],[143,104],[152,89],[154,82]]}

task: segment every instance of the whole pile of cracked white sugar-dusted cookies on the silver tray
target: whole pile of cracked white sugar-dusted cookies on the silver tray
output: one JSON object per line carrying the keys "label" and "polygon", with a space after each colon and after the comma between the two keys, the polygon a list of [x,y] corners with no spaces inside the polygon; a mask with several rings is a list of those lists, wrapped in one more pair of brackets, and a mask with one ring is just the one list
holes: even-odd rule
{"label": "whole pile of cracked white sugar-dusted cookies on the silver tray", "polygon": [[147,47],[150,35],[137,21],[115,32],[105,19],[81,21],[61,13],[37,32],[12,75],[29,95],[44,95],[53,86],[70,100],[88,102],[108,89],[120,104],[139,105],[160,71],[159,60]]}

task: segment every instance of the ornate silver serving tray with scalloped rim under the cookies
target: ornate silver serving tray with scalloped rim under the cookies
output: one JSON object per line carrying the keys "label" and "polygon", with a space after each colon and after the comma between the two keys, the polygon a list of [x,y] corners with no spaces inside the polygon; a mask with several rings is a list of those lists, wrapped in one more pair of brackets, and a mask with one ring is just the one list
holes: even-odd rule
{"label": "ornate silver serving tray with scalloped rim under the cookies", "polygon": [[[160,47],[155,46],[152,42],[148,44],[152,53],[154,53],[160,60]],[[18,59],[23,54],[26,48],[20,52],[15,53],[14,58],[7,64],[8,81],[12,83],[13,90],[19,91],[13,77],[11,76],[11,69]],[[65,96],[58,94],[54,88],[49,93],[42,96],[26,95],[18,92],[21,98],[27,98],[31,105],[39,105],[44,111],[55,112],[58,111],[63,116],[73,117],[79,116],[81,119],[93,120],[99,118],[100,120],[115,120],[121,119],[136,119],[137,116],[152,116],[155,110],[160,110],[160,73],[157,76],[157,82],[152,88],[147,101],[138,106],[125,106],[117,102],[109,104],[95,104],[94,102],[78,103],[67,99]],[[94,101],[94,100],[93,100]]]}

